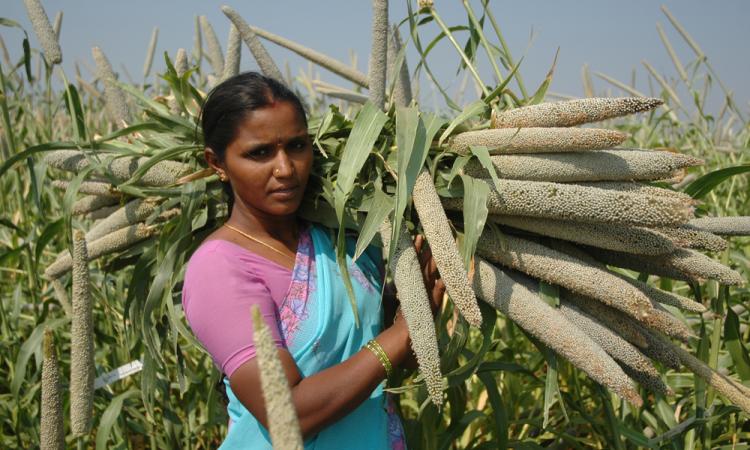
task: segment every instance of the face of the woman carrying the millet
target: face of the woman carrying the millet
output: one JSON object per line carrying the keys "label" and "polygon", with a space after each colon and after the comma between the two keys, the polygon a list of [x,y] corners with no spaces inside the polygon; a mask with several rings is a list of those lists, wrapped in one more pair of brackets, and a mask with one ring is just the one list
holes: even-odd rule
{"label": "face of the woman carrying the millet", "polygon": [[235,207],[256,216],[291,216],[310,176],[313,150],[295,107],[275,101],[248,114],[227,146],[223,169]]}

